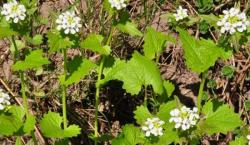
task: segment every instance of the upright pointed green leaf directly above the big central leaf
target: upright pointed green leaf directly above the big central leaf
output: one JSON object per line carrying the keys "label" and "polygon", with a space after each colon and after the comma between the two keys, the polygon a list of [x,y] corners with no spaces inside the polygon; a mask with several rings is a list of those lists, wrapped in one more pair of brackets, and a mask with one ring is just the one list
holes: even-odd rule
{"label": "upright pointed green leaf directly above the big central leaf", "polygon": [[157,32],[153,28],[148,28],[144,37],[144,53],[149,59],[159,56],[165,48],[166,41],[176,42],[171,36]]}

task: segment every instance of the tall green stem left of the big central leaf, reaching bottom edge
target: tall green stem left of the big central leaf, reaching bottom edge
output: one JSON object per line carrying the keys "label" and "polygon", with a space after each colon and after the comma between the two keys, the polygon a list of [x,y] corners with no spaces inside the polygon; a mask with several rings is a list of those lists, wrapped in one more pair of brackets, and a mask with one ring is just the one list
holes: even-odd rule
{"label": "tall green stem left of the big central leaf, reaching bottom edge", "polygon": [[[109,33],[109,36],[108,36],[108,39],[107,39],[107,42],[106,42],[106,45],[109,45],[110,42],[111,42],[113,30],[114,30],[114,28],[112,26],[111,30],[110,30],[110,33]],[[98,106],[99,106],[100,89],[101,89],[100,81],[101,81],[101,78],[102,78],[102,73],[103,73],[105,59],[106,59],[106,56],[102,56],[102,60],[101,60],[100,67],[99,67],[99,70],[98,70],[97,82],[96,82],[96,94],[95,94],[95,134],[94,134],[96,138],[98,137],[98,112],[99,112]],[[98,141],[97,141],[97,139],[95,139],[95,145],[97,145],[97,144],[98,144]]]}

